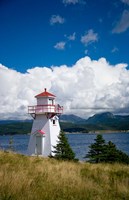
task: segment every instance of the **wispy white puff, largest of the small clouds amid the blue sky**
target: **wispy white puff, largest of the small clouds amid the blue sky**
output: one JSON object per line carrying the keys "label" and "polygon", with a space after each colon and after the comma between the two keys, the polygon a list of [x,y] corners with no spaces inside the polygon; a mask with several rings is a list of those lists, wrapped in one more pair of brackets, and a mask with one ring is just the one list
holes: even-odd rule
{"label": "wispy white puff, largest of the small clouds amid the blue sky", "polygon": [[92,29],[88,30],[86,34],[81,37],[81,42],[85,46],[97,41],[98,41],[98,34],[94,33]]}

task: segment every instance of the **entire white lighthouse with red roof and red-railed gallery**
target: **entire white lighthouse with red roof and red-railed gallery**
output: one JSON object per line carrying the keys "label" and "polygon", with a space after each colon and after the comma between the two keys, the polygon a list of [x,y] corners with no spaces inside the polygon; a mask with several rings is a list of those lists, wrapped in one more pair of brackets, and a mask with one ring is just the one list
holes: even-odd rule
{"label": "entire white lighthouse with red roof and red-railed gallery", "polygon": [[28,107],[28,113],[34,119],[28,154],[47,157],[52,154],[53,146],[56,146],[58,141],[59,115],[62,114],[63,107],[55,104],[56,96],[47,92],[46,88],[35,97],[37,105]]}

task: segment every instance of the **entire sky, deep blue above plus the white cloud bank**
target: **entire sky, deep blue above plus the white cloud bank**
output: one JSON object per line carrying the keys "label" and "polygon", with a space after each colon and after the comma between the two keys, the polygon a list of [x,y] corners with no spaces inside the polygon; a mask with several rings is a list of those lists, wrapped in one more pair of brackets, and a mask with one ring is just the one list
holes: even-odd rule
{"label": "entire sky, deep blue above plus the white cloud bank", "polygon": [[0,119],[46,87],[64,114],[129,114],[129,0],[0,0]]}

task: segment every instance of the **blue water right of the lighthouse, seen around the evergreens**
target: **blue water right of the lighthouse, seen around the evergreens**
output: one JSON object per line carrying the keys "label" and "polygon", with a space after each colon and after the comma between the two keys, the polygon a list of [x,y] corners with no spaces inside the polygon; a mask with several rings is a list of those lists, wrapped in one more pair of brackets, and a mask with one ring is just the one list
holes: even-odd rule
{"label": "blue water right of the lighthouse, seen around the evergreens", "polygon": [[[116,147],[129,155],[129,133],[105,133],[102,134],[106,142],[112,141]],[[89,145],[94,143],[96,134],[68,134],[69,144],[76,157],[79,160],[84,160],[84,156],[89,151]]]}

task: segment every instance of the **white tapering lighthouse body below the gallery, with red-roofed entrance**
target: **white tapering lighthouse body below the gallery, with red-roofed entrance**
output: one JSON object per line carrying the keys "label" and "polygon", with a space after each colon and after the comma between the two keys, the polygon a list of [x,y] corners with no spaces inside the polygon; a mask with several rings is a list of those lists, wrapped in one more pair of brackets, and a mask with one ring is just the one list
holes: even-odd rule
{"label": "white tapering lighthouse body below the gallery, with red-roofed entrance", "polygon": [[54,155],[60,134],[59,118],[48,119],[46,115],[38,115],[33,121],[30,135],[28,154],[48,157]]}

